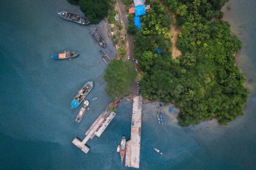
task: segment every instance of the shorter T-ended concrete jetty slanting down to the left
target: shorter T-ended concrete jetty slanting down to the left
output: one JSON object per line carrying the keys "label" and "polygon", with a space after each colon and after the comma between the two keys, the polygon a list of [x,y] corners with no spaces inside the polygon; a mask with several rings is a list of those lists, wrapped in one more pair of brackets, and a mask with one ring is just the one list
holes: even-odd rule
{"label": "shorter T-ended concrete jetty slanting down to the left", "polygon": [[84,140],[79,140],[79,138],[74,138],[72,143],[76,145],[78,148],[80,148],[85,154],[87,154],[90,151],[90,148],[86,146],[85,144],[89,139],[93,139],[93,137],[96,135],[97,137],[100,137],[101,134],[105,131],[108,124],[112,119],[115,117],[116,113],[111,112],[110,110],[106,109],[104,112],[102,112],[101,115],[94,121],[94,123],[91,125],[91,127],[88,129],[88,131],[85,133]]}

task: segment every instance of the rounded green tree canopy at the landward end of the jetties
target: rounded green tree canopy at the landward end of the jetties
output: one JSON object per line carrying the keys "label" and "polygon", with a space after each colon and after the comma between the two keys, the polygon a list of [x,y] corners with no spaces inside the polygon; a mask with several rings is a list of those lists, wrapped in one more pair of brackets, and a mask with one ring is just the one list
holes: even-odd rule
{"label": "rounded green tree canopy at the landward end of the jetties", "polygon": [[105,69],[104,80],[107,81],[106,92],[116,100],[129,95],[137,72],[130,61],[114,60]]}

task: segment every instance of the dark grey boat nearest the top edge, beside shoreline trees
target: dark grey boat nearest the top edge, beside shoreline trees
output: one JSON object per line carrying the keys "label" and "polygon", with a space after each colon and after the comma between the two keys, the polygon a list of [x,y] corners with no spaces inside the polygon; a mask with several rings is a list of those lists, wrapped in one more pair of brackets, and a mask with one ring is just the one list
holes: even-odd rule
{"label": "dark grey boat nearest the top edge, beside shoreline trees", "polygon": [[66,20],[69,20],[69,21],[73,21],[73,22],[76,22],[78,24],[82,24],[82,25],[88,25],[90,24],[90,21],[88,18],[86,18],[85,16],[80,16],[80,15],[76,15],[74,13],[70,13],[70,12],[58,12],[58,14],[66,19]]}

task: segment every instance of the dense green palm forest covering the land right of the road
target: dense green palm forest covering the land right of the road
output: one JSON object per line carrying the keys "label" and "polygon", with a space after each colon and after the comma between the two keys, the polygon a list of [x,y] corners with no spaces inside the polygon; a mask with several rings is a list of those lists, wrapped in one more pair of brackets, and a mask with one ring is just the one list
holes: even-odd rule
{"label": "dense green palm forest covering the land right of the road", "polygon": [[[235,65],[242,44],[230,25],[221,21],[225,2],[146,1],[151,10],[141,17],[141,30],[129,16],[128,33],[134,35],[135,58],[142,69],[142,95],[150,101],[177,104],[181,126],[213,118],[227,124],[243,115],[248,90]],[[179,30],[176,44],[170,41],[171,24]],[[177,46],[180,56],[173,56],[172,46]]]}

